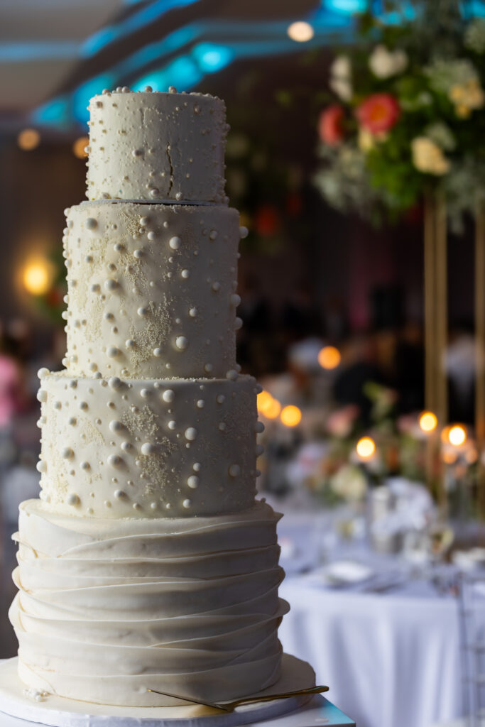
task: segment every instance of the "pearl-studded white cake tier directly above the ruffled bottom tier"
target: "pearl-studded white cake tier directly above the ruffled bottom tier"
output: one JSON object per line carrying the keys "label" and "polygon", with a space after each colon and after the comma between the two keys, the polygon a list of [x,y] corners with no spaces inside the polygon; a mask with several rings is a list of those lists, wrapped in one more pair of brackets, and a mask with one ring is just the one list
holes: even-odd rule
{"label": "pearl-studded white cake tier directly above the ruffled bottom tier", "polygon": [[256,382],[41,378],[41,498],[60,513],[235,512],[255,494]]}

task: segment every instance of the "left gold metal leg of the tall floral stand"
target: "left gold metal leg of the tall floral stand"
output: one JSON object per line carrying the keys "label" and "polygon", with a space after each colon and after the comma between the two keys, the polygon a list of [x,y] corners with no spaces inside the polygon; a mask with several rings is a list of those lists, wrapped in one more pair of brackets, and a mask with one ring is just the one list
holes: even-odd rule
{"label": "left gold metal leg of the tall floral stand", "polygon": [[426,475],[433,487],[436,475],[438,503],[446,515],[447,498],[443,467],[438,473],[439,430],[448,418],[448,382],[445,352],[448,336],[446,206],[441,196],[425,198],[425,406],[438,419],[438,427],[428,438]]}

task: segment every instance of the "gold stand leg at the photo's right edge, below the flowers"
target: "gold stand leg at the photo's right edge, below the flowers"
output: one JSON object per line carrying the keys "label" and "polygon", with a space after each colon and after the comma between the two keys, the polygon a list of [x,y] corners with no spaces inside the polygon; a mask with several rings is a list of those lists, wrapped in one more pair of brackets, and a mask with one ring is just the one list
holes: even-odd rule
{"label": "gold stand leg at the photo's right edge, below the flowers", "polygon": [[476,206],[475,219],[475,435],[478,451],[477,504],[478,515],[485,517],[485,205]]}

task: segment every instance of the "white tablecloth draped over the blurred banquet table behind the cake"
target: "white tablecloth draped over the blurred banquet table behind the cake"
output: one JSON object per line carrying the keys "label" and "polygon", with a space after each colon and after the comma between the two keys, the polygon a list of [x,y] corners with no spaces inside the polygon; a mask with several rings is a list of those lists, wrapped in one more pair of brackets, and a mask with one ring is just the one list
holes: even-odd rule
{"label": "white tablecloth draped over the blurred banquet table behind the cake", "polygon": [[282,548],[280,595],[291,606],[279,628],[284,651],[312,664],[358,727],[431,727],[460,716],[457,599],[425,582],[359,593],[298,574],[292,561],[311,571],[315,533],[325,527],[318,513],[289,513],[278,524],[280,542],[298,546],[293,558]]}

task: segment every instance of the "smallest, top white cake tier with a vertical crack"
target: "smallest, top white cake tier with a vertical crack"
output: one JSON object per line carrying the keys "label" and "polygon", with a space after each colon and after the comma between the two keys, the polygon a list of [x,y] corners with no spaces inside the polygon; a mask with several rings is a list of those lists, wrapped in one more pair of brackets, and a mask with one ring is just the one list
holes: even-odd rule
{"label": "smallest, top white cake tier with a vertical crack", "polygon": [[119,89],[93,97],[88,108],[90,200],[227,204],[223,101]]}

